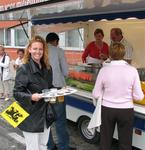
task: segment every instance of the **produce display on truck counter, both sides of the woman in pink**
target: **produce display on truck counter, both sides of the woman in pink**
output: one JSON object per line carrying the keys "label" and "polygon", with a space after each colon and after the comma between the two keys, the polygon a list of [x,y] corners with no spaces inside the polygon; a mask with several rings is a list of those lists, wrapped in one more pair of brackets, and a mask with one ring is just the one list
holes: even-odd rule
{"label": "produce display on truck counter, both sides of the woman in pink", "polygon": [[[66,84],[76,89],[92,92],[100,66],[75,65],[69,70],[69,77],[66,78]],[[145,94],[145,68],[138,68],[141,87]],[[142,101],[134,101],[137,104],[145,105],[145,98]]]}

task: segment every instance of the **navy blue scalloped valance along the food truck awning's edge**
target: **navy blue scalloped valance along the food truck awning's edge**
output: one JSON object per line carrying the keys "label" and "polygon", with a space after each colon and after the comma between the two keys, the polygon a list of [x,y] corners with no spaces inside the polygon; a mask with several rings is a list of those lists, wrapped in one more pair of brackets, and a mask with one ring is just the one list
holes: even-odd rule
{"label": "navy blue scalloped valance along the food truck awning's edge", "polygon": [[67,17],[54,17],[54,18],[32,18],[33,25],[43,25],[43,24],[57,24],[57,23],[68,23],[68,22],[86,22],[89,20],[98,21],[101,19],[113,20],[116,18],[127,19],[130,17],[135,17],[138,19],[145,19],[145,11],[134,11],[134,12],[117,12],[117,13],[103,13],[103,14],[84,14],[81,16],[67,16]]}

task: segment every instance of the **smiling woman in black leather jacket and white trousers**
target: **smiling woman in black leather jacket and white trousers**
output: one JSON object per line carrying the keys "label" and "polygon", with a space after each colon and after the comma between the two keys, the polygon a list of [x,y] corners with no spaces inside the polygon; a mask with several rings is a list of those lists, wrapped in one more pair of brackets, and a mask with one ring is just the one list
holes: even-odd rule
{"label": "smiling woman in black leather jacket and white trousers", "polygon": [[52,87],[52,70],[43,38],[35,36],[25,49],[24,64],[17,70],[14,98],[30,114],[18,127],[23,131],[26,150],[47,150],[49,137],[42,90]]}

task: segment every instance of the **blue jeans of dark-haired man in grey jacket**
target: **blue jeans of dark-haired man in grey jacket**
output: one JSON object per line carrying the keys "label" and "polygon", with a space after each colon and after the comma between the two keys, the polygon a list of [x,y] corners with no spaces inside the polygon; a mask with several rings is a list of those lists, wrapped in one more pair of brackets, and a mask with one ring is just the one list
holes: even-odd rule
{"label": "blue jeans of dark-haired man in grey jacket", "polygon": [[[59,150],[69,150],[69,135],[67,131],[66,122],[66,104],[65,102],[58,102],[54,104],[54,109],[57,114],[57,120],[55,122],[55,130],[57,135],[57,147]],[[52,150],[55,146],[53,141],[52,133],[49,135],[49,140],[47,143],[48,149]]]}

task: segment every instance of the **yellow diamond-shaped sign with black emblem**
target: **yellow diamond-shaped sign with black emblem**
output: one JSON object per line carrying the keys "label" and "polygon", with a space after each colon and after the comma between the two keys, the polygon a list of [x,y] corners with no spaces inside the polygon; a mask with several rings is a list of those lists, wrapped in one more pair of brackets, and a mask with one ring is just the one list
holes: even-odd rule
{"label": "yellow diamond-shaped sign with black emblem", "polygon": [[17,102],[13,102],[1,113],[1,116],[15,128],[23,122],[29,114]]}

